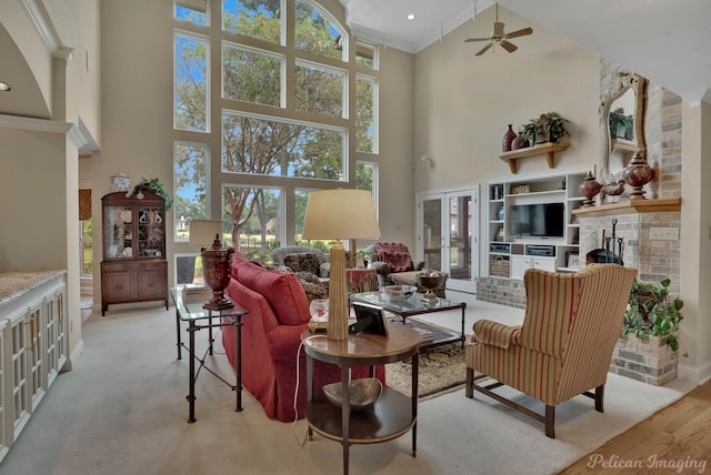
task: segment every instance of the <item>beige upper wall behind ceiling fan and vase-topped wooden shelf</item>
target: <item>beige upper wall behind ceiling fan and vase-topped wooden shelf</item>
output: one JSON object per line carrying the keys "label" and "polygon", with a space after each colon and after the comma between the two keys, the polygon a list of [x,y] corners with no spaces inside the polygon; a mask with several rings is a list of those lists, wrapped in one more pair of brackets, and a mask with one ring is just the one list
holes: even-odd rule
{"label": "beige upper wall behind ceiling fan and vase-topped wooden shelf", "polygon": [[[549,111],[570,120],[571,146],[555,156],[555,171],[598,162],[599,55],[503,8],[499,18],[507,31],[533,28],[511,40],[513,53],[495,47],[475,57],[487,43],[464,43],[490,34],[490,8],[415,58],[414,154],[434,162],[418,169],[415,191],[509,176],[499,159],[508,124],[518,130]],[[547,170],[544,156],[519,161],[519,174]]]}

